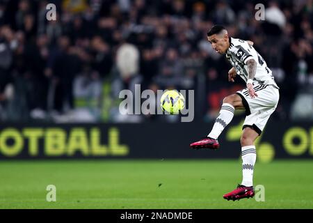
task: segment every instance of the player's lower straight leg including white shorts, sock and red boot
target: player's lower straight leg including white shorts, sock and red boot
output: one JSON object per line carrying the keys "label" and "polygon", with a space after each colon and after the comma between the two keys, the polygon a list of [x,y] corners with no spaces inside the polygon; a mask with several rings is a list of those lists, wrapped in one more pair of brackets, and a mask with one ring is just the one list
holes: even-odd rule
{"label": "player's lower straight leg including white shorts, sock and red boot", "polygon": [[[275,86],[256,86],[257,98],[250,98],[248,91],[243,89],[239,95],[246,105],[246,119],[243,123],[243,134],[241,136],[241,157],[242,157],[242,174],[241,185],[224,194],[224,199],[239,200],[254,196],[253,190],[253,170],[257,159],[255,149],[255,140],[264,130],[268,118],[273,114],[279,100],[279,91]],[[248,110],[248,112],[247,112]]]}

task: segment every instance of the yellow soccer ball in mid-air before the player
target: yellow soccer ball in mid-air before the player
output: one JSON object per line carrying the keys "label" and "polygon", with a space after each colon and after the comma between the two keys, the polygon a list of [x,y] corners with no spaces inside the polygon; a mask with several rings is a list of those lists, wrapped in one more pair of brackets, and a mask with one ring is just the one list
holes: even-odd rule
{"label": "yellow soccer ball in mid-air before the player", "polygon": [[185,107],[185,98],[177,90],[165,91],[161,96],[161,108],[169,114],[179,114]]}

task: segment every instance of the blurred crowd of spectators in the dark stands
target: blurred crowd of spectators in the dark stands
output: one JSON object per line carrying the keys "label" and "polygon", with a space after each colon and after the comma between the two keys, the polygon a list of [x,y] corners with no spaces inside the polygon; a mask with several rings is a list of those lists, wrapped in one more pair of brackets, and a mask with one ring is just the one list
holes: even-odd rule
{"label": "blurred crowd of spectators in the dark stands", "polygon": [[[48,3],[56,20],[47,20]],[[195,119],[211,121],[245,87],[239,77],[227,82],[230,64],[207,42],[213,24],[253,41],[273,71],[281,95],[273,118],[313,120],[312,0],[1,0],[0,119],[154,121],[119,112],[120,91],[141,84],[195,90]]]}

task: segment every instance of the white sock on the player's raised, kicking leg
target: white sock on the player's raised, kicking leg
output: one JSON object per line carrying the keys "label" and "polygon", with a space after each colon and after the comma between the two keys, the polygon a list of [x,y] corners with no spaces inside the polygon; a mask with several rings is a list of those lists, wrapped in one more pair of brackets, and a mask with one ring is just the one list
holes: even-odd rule
{"label": "white sock on the player's raised, kicking leg", "polygon": [[220,133],[223,132],[224,128],[232,121],[234,117],[234,106],[223,103],[220,108],[220,114],[216,118],[216,121],[213,125],[211,132],[207,135],[213,139],[217,139],[220,136]]}

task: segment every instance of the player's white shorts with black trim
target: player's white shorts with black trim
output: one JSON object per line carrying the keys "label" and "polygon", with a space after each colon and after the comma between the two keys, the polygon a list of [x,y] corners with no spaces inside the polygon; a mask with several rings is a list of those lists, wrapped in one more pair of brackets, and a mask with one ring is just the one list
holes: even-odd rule
{"label": "player's white shorts with black trim", "polygon": [[250,97],[247,89],[236,93],[241,97],[246,109],[246,119],[242,129],[250,127],[260,135],[268,118],[278,105],[280,93],[278,88],[273,85],[256,85],[253,88],[258,95],[255,98]]}

